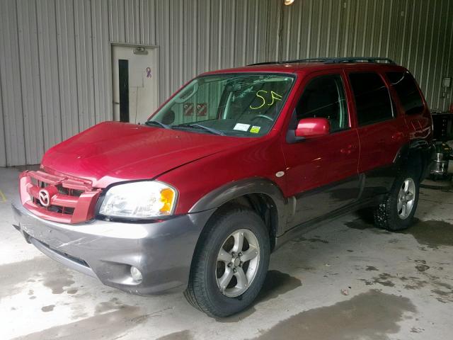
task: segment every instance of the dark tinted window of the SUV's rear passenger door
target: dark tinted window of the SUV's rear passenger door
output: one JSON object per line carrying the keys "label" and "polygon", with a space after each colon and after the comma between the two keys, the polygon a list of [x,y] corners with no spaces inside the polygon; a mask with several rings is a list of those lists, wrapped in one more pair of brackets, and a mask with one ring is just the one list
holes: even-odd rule
{"label": "dark tinted window of the SUV's rear passenger door", "polygon": [[377,73],[351,73],[359,125],[368,125],[394,117],[389,90]]}

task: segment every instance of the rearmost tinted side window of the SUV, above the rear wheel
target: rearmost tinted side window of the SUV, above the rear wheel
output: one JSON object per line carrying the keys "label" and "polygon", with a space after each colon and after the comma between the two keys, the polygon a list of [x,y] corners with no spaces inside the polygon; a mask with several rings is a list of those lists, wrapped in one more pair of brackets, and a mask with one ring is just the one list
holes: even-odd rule
{"label": "rearmost tinted side window of the SUV, above the rear wheel", "polygon": [[389,72],[386,73],[386,76],[389,78],[391,85],[394,86],[407,115],[415,115],[423,111],[423,99],[411,74],[407,72]]}

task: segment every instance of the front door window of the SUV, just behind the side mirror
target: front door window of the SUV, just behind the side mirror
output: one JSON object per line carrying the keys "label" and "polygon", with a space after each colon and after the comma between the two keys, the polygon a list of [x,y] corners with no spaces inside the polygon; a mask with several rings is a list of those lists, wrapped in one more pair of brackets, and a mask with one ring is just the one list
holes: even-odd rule
{"label": "front door window of the SUV, just behind the side mirror", "polygon": [[329,74],[312,79],[304,89],[296,113],[297,120],[327,118],[331,132],[348,128],[348,106],[340,75]]}

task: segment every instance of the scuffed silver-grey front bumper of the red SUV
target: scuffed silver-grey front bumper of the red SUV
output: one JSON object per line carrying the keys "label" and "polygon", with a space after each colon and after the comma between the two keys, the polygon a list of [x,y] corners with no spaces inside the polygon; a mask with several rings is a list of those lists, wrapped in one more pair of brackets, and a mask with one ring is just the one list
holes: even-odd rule
{"label": "scuffed silver-grey front bumper of the red SUV", "polygon": [[[138,295],[187,287],[195,245],[213,212],[144,224],[94,220],[66,225],[42,220],[19,200],[12,208],[16,229],[42,253],[105,285]],[[142,272],[141,282],[132,279],[130,266]]]}

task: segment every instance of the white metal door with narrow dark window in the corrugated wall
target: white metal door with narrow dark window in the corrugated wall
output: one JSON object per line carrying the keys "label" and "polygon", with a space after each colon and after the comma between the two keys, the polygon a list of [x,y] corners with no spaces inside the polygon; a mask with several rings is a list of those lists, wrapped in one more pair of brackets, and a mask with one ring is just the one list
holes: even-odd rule
{"label": "white metal door with narrow dark window in the corrugated wall", "polygon": [[[122,120],[143,123],[158,106],[157,48],[112,45],[112,67],[113,119],[120,120],[121,108]],[[121,89],[120,80],[123,81]],[[126,109],[127,115],[125,115]]]}

